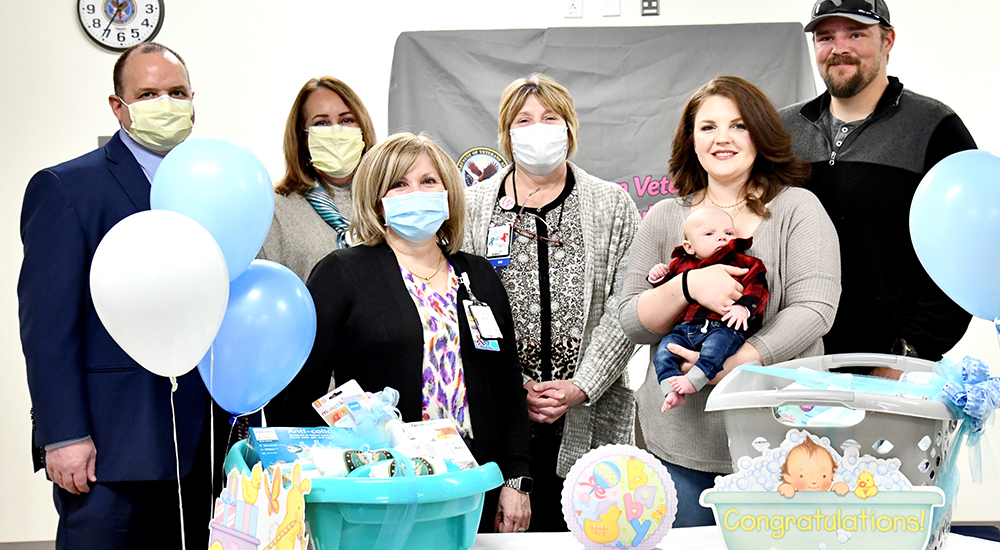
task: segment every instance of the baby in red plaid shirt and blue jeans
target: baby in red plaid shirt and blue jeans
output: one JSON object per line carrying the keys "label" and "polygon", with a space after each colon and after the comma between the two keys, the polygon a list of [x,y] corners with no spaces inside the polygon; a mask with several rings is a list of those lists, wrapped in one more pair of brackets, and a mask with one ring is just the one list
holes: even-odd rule
{"label": "baby in red plaid shirt and blue jeans", "polygon": [[[722,370],[726,359],[740,349],[746,337],[760,329],[761,313],[768,297],[767,279],[764,263],[743,254],[752,242],[752,238],[736,238],[729,214],[720,208],[704,206],[684,220],[684,242],[671,254],[670,266],[656,264],[649,270],[647,280],[655,287],[689,269],[715,264],[749,269],[739,278],[743,296],[725,308],[724,315],[692,302],[678,319],[673,332],[660,341],[653,366],[663,390],[663,412],[683,405],[684,394],[705,387]],[[684,282],[687,296],[687,281]],[[695,368],[687,374],[681,373],[684,359],[667,348],[671,343],[701,352]]]}

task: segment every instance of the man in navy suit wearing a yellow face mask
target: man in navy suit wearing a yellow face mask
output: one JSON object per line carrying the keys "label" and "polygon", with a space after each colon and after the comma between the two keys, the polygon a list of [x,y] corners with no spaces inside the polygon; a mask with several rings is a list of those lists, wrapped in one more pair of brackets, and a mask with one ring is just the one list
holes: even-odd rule
{"label": "man in navy suit wearing a yellow face mask", "polygon": [[171,385],[132,360],[101,324],[90,263],[104,235],[149,209],[150,182],[191,131],[184,61],[146,43],[124,52],[108,98],[121,124],[104,147],[42,170],[21,211],[21,342],[36,469],[54,482],[57,548],[179,548],[177,470],[189,548],[211,515],[209,397],[197,371]]}

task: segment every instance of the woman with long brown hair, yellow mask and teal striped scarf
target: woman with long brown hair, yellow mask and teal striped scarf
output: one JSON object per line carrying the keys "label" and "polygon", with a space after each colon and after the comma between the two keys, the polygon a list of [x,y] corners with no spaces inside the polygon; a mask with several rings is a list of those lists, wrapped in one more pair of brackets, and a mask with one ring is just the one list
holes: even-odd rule
{"label": "woman with long brown hair, yellow mask and teal striped scarf", "polygon": [[330,76],[302,86],[285,124],[285,177],[275,186],[274,220],[258,258],[303,281],[331,250],[350,246],[351,182],[375,128],[361,98]]}

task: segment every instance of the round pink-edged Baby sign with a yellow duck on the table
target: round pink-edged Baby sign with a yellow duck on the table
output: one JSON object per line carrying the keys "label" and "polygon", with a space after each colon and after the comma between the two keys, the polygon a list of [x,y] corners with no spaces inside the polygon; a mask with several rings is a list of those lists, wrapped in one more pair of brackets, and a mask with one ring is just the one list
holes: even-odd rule
{"label": "round pink-edged Baby sign with a yellow duck on the table", "polygon": [[604,445],[583,455],[566,476],[566,525],[592,550],[647,550],[667,535],[677,491],[663,464],[630,445]]}

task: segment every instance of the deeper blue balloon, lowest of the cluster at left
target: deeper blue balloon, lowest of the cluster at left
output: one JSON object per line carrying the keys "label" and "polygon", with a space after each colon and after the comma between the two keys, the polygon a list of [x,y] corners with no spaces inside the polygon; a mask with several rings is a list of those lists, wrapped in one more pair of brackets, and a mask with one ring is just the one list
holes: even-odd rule
{"label": "deeper blue balloon, lowest of the cluster at left", "polygon": [[198,372],[220,407],[246,414],[295,378],[315,339],[316,306],[306,285],[281,264],[253,260],[229,285],[226,316]]}

